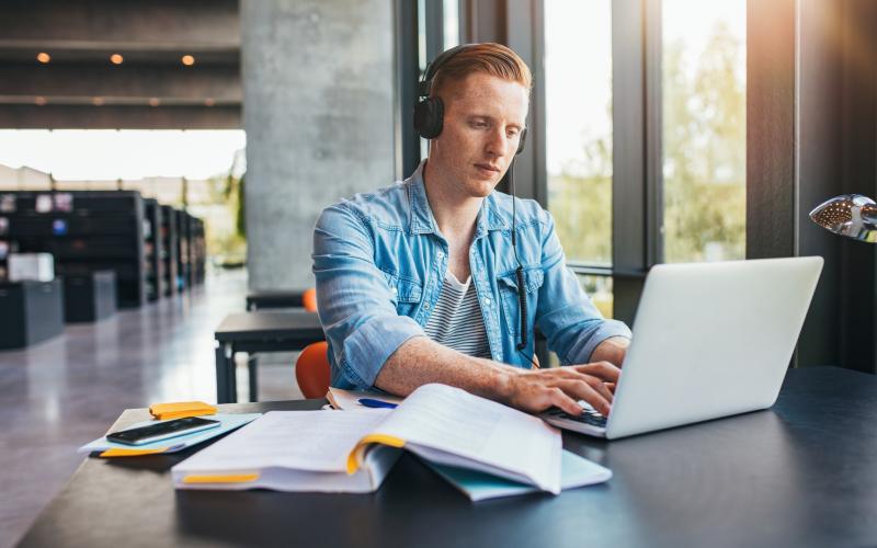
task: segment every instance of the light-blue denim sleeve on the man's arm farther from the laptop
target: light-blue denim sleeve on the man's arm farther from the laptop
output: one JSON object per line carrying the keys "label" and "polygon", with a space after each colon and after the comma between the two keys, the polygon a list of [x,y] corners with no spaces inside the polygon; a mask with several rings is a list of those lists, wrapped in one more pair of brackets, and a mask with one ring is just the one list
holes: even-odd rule
{"label": "light-blue denim sleeve on the man's arm farther from the laptop", "polygon": [[332,386],[368,389],[387,358],[408,339],[423,335],[399,316],[375,266],[371,231],[341,203],[326,208],[314,230],[317,309],[330,349]]}

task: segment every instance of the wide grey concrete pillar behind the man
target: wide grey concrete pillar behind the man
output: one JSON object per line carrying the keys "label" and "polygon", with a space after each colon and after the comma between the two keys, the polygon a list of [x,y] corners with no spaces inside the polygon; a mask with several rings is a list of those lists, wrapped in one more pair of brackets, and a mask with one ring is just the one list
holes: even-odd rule
{"label": "wide grey concrete pillar behind the man", "polygon": [[241,0],[250,289],[312,286],[319,212],[392,182],[391,7]]}

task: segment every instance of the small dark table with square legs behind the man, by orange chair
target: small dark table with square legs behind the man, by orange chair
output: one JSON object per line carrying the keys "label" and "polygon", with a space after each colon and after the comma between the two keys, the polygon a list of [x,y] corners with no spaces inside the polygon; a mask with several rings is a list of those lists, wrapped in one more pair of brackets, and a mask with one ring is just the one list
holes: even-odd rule
{"label": "small dark table with square legs behind the man, by orange chair", "polygon": [[[237,312],[216,328],[216,401],[238,401],[235,354],[238,352],[286,352],[301,350],[323,341],[322,326],[316,312]],[[250,401],[259,393],[257,361],[248,363]],[[291,377],[292,378],[292,377]],[[291,380],[292,381],[292,380]]]}

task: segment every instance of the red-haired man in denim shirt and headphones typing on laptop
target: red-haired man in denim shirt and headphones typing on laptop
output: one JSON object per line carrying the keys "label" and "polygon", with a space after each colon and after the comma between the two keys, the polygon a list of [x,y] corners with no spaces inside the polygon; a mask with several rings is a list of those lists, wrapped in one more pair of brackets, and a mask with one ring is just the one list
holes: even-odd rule
{"label": "red-haired man in denim shirt and headphones typing on laptop", "polygon": [[[494,191],[521,145],[529,69],[499,44],[436,62],[426,82],[434,119],[418,119],[429,158],[403,183],[342,201],[317,221],[332,386],[405,396],[443,383],[525,411],[579,413],[583,399],[608,414],[630,331],[583,294],[550,214],[515,199],[513,228],[512,197]],[[531,368],[535,326],[571,366]]]}

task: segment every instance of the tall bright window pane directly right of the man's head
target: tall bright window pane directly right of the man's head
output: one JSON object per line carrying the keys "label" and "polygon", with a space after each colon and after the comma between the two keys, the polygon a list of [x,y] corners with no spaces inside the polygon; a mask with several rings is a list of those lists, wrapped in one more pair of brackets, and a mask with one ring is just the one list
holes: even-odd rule
{"label": "tall bright window pane directly right of the man's head", "polygon": [[548,209],[570,263],[612,264],[612,2],[545,0]]}

